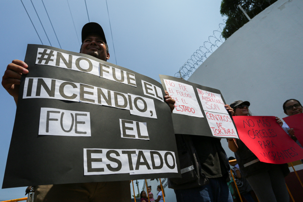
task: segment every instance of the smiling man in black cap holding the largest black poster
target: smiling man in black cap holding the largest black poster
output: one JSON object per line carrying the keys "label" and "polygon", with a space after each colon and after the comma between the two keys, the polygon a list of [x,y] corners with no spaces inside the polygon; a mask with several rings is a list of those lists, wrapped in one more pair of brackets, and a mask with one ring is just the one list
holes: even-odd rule
{"label": "smiling man in black cap holding the largest black poster", "polygon": [[[80,53],[94,56],[100,60],[109,59],[108,46],[102,27],[95,22],[87,23],[82,28],[82,45]],[[28,65],[21,60],[13,60],[7,66],[2,77],[2,86],[13,96],[16,104],[18,101],[21,74],[27,74]],[[168,93],[165,96],[171,111],[175,101]],[[129,181],[94,182],[75,184],[56,184],[35,186],[34,201],[54,202],[93,202],[93,201],[130,201],[131,190]]]}

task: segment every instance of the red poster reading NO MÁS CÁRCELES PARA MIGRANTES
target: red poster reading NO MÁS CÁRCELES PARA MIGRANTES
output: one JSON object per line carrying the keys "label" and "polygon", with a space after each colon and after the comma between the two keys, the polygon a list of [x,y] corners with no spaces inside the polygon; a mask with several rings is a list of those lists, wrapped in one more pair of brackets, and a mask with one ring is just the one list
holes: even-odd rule
{"label": "red poster reading NO M\u00c1S C\u00c1RCELES PARA MIGRANTES", "polygon": [[234,116],[240,140],[265,163],[303,159],[303,149],[285,133],[274,116]]}

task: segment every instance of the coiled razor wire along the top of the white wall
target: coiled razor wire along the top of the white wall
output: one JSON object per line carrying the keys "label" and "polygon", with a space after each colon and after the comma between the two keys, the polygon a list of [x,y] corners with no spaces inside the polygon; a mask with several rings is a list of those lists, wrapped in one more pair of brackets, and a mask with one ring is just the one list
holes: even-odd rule
{"label": "coiled razor wire along the top of the white wall", "polygon": [[[237,12],[239,15],[236,18],[223,20],[223,22],[219,24],[219,28],[213,31],[213,34],[208,37],[208,40],[191,55],[191,58],[185,62],[174,76],[182,79],[189,78],[191,74],[194,73],[194,71],[225,41],[225,38],[228,38],[224,37],[226,35],[229,36],[228,32],[234,33],[276,1],[277,0],[242,0],[239,5],[234,5],[234,12]],[[226,24],[228,24],[228,26]],[[224,32],[224,36],[222,36],[222,32]]]}

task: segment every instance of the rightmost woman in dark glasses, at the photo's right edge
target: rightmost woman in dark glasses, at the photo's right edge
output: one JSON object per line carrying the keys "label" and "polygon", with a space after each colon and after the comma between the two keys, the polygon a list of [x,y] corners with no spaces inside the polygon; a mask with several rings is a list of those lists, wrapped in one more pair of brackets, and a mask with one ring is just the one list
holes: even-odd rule
{"label": "rightmost woman in dark glasses, at the photo's right edge", "polygon": [[[284,102],[283,110],[286,115],[291,116],[295,114],[301,114],[303,112],[303,107],[298,100],[290,99]],[[295,136],[295,131],[293,128],[289,128],[285,122],[283,123],[282,128],[300,147],[302,147]],[[301,159],[301,162],[303,163],[303,159]]]}

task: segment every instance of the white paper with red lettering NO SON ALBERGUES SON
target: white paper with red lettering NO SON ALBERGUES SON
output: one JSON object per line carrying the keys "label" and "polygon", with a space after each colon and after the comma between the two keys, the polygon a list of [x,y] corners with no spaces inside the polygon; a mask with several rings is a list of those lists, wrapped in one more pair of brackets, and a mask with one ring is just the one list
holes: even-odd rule
{"label": "white paper with red lettering NO SON ALBERGUES SON", "polygon": [[202,107],[205,111],[228,114],[220,94],[197,88]]}

